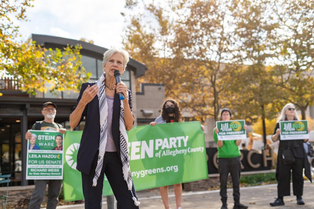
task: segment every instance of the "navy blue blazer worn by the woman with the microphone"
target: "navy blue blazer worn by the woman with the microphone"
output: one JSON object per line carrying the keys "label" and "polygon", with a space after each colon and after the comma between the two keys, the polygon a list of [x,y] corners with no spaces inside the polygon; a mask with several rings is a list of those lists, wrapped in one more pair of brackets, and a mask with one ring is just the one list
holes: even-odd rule
{"label": "navy blue blazer worn by the woman with the microphone", "polygon": [[[95,85],[95,82],[86,82],[82,84],[81,91],[79,93],[76,106],[73,107],[72,112],[78,105],[84,90],[87,86]],[[131,91],[127,89],[129,94],[129,106],[131,111],[132,107],[132,95]],[[116,144],[117,153],[120,156],[120,99],[119,94],[115,92],[114,101],[113,101],[113,113],[112,113],[112,136]],[[85,117],[85,126],[81,138],[81,143],[78,148],[77,155],[77,166],[76,169],[80,172],[83,172],[89,175],[90,166],[92,165],[95,154],[99,148],[100,140],[100,116],[99,116],[99,104],[98,96],[96,95],[92,101],[90,101],[84,108],[81,119],[78,125],[82,122]],[[77,126],[78,126],[77,125]],[[120,159],[120,158],[119,158]],[[121,160],[121,159],[120,159]]]}

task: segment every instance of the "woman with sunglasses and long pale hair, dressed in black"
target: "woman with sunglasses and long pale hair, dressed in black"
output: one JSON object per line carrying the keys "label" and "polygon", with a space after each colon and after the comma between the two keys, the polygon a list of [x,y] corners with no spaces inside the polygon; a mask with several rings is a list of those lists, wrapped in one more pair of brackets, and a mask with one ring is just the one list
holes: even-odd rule
{"label": "woman with sunglasses and long pale hair, dressed in black", "polygon": [[[292,169],[292,184],[293,184],[293,194],[296,196],[297,204],[304,205],[302,200],[303,195],[303,168],[305,169],[304,174],[307,178],[311,180],[310,164],[306,158],[306,152],[303,147],[303,142],[307,142],[308,139],[303,140],[280,140],[279,122],[280,121],[290,121],[290,120],[300,120],[298,114],[295,110],[295,106],[292,103],[288,103],[284,106],[281,111],[280,116],[277,119],[277,125],[275,127],[274,133],[272,135],[272,140],[274,142],[280,141],[278,149],[278,159],[276,166],[276,179],[278,181],[277,185],[277,199],[270,203],[271,206],[284,205],[284,196],[290,196],[290,178]],[[307,128],[310,132],[310,128]],[[283,161],[283,150],[290,149],[295,162],[287,165]]]}

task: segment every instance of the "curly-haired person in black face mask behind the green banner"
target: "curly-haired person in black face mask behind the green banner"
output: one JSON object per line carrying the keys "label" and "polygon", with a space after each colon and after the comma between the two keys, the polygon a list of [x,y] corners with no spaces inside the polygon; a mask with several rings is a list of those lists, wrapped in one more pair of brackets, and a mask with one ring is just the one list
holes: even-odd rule
{"label": "curly-haired person in black face mask behind the green banner", "polygon": [[[155,126],[156,124],[161,123],[174,123],[174,122],[182,122],[181,110],[178,103],[173,99],[166,99],[164,102],[161,115],[155,119],[154,122],[149,123],[151,126]],[[202,130],[205,128],[201,125]],[[169,186],[161,186],[160,187],[160,196],[164,203],[165,209],[170,209],[169,200],[168,200],[168,187]],[[176,196],[176,208],[181,208],[181,196],[182,196],[182,184],[173,185],[175,196]]]}

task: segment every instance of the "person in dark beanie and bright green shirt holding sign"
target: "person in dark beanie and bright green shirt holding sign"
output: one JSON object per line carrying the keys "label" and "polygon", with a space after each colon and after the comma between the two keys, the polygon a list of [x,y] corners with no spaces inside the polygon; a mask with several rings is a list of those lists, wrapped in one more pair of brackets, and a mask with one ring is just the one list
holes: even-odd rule
{"label": "person in dark beanie and bright green shirt holding sign", "polygon": [[[229,121],[231,118],[231,111],[228,108],[223,108],[221,110],[221,120]],[[243,129],[246,130],[247,126],[244,125]],[[218,149],[218,172],[219,172],[219,180],[220,180],[220,196],[222,201],[221,209],[228,209],[227,207],[227,180],[228,174],[230,172],[232,179],[232,187],[233,187],[233,200],[235,204],[233,206],[234,209],[246,209],[248,208],[245,205],[240,203],[240,149],[239,145],[241,143],[241,139],[239,140],[218,140],[217,133],[219,129],[217,127],[214,128],[213,136],[214,141],[217,144]]]}

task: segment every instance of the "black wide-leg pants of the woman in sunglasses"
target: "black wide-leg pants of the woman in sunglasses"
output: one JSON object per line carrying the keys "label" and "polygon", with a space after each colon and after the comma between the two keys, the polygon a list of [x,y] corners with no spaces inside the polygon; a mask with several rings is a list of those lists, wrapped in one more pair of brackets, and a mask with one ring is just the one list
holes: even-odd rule
{"label": "black wide-leg pants of the woman in sunglasses", "polygon": [[292,169],[292,185],[293,194],[295,196],[303,195],[303,158],[296,158],[295,162],[291,165],[284,165],[282,156],[278,156],[278,196],[290,196],[290,179],[291,179],[291,169]]}

